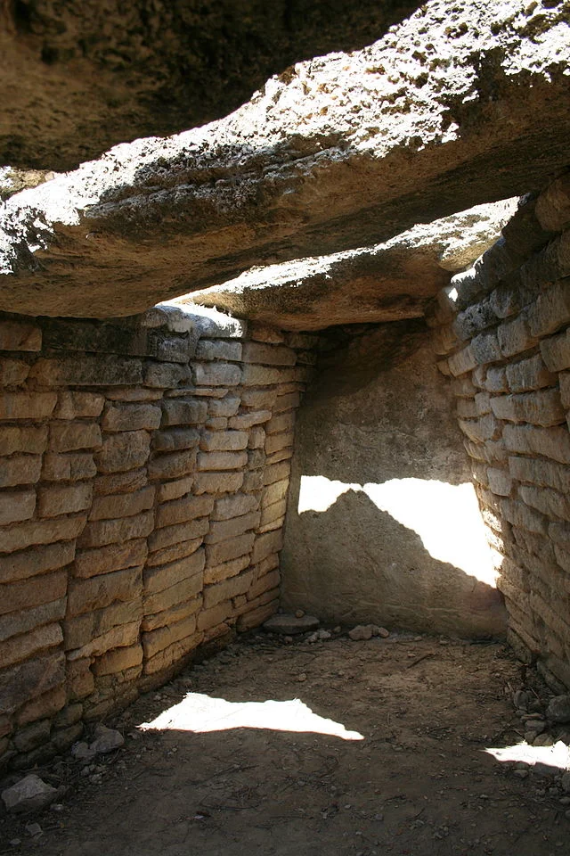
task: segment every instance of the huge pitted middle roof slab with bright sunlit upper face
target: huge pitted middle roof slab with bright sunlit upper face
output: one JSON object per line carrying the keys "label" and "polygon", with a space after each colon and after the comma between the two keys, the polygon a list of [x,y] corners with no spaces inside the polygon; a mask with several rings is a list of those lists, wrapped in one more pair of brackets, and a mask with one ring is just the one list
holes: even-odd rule
{"label": "huge pitted middle roof slab with bright sunlit upper face", "polygon": [[567,0],[432,0],[362,51],[272,78],[227,119],[12,197],[0,309],[130,315],[532,189],[567,157],[567,20]]}

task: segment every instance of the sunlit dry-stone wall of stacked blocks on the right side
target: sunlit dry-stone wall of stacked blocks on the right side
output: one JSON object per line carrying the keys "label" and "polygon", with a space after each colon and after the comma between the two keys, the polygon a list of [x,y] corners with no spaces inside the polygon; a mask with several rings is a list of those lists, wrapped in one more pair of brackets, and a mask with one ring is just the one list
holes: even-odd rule
{"label": "sunlit dry-stone wall of stacked blocks on the right side", "polygon": [[509,641],[570,687],[570,175],[521,201],[429,319],[509,613]]}

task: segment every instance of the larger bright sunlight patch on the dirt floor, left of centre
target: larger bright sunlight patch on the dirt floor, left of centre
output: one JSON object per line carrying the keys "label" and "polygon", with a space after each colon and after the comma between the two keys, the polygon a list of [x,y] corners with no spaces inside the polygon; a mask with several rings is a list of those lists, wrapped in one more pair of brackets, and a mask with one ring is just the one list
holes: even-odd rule
{"label": "larger bright sunlight patch on the dirt floor, left of centre", "polygon": [[300,699],[288,702],[228,702],[203,693],[188,693],[142,731],[226,731],[228,728],[267,728],[271,731],[310,731],[343,740],[363,740],[358,731],[348,731],[340,722],[327,720]]}

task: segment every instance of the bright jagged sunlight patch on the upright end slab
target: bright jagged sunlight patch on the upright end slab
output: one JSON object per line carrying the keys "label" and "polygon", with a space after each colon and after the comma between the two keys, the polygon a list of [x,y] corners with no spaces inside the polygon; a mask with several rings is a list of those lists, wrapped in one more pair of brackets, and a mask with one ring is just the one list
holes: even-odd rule
{"label": "bright jagged sunlight patch on the upright end slab", "polygon": [[330,481],[322,475],[303,475],[298,513],[327,511],[349,490],[362,491],[380,511],[417,532],[430,556],[495,585],[498,574],[470,482],[391,479],[379,484],[355,484]]}

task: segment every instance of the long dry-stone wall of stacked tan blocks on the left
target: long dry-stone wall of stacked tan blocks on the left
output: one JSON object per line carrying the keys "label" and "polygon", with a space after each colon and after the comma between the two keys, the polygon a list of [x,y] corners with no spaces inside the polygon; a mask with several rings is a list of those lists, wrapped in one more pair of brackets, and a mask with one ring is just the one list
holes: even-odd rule
{"label": "long dry-stone wall of stacked tan blocks on the left", "polygon": [[274,612],[313,346],[199,308],[0,318],[0,767]]}

